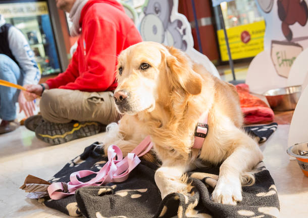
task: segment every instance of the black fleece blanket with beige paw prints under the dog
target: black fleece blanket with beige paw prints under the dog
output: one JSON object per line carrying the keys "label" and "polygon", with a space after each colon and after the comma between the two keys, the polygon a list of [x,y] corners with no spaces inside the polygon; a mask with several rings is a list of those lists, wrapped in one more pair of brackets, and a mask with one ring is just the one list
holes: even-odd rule
{"label": "black fleece blanket with beige paw prints under the dog", "polygon": [[[246,127],[245,130],[264,142],[277,128],[277,123]],[[85,148],[78,157],[67,163],[50,180],[69,182],[72,172],[90,169],[98,171],[108,161],[98,143]],[[243,186],[243,200],[236,206],[215,203],[211,200],[219,175],[219,166],[197,168],[188,172],[193,188],[187,195],[172,193],[163,200],[155,184],[158,166],[141,160],[122,183],[83,187],[75,195],[52,200],[40,198],[47,207],[71,216],[95,217],[278,217],[279,200],[274,181],[263,162],[255,166],[255,184]],[[88,181],[90,178],[83,178]],[[82,181],[82,179],[81,179]]]}

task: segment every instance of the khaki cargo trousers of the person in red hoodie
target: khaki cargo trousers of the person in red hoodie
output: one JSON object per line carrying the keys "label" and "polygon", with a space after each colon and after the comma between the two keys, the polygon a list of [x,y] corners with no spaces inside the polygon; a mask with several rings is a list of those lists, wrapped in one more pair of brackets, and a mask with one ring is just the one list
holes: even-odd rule
{"label": "khaki cargo trousers of the person in red hoodie", "polygon": [[40,112],[49,122],[97,121],[107,125],[120,119],[113,98],[112,92],[45,90],[40,99]]}

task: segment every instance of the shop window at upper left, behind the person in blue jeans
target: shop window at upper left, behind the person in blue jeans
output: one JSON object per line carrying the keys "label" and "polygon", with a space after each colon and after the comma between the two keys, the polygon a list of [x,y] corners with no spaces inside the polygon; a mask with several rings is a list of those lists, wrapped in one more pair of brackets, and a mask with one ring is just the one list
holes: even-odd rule
{"label": "shop window at upper left, behind the person in blue jeans", "polygon": [[0,1],[0,14],[28,39],[42,75],[61,72],[47,1]]}

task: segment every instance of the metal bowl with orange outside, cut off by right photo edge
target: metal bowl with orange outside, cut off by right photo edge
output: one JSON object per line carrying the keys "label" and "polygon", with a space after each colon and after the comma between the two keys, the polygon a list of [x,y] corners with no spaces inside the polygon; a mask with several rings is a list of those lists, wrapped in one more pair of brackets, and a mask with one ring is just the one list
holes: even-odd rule
{"label": "metal bowl with orange outside, cut off by right photo edge", "polygon": [[296,158],[301,171],[308,177],[308,142],[295,144],[289,147],[287,153]]}

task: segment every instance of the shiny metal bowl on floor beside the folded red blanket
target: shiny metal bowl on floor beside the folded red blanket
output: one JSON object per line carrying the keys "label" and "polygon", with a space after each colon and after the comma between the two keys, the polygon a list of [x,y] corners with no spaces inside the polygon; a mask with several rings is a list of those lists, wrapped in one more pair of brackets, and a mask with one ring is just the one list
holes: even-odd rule
{"label": "shiny metal bowl on floor beside the folded red blanket", "polygon": [[276,111],[294,110],[301,94],[301,85],[269,90],[263,95]]}

